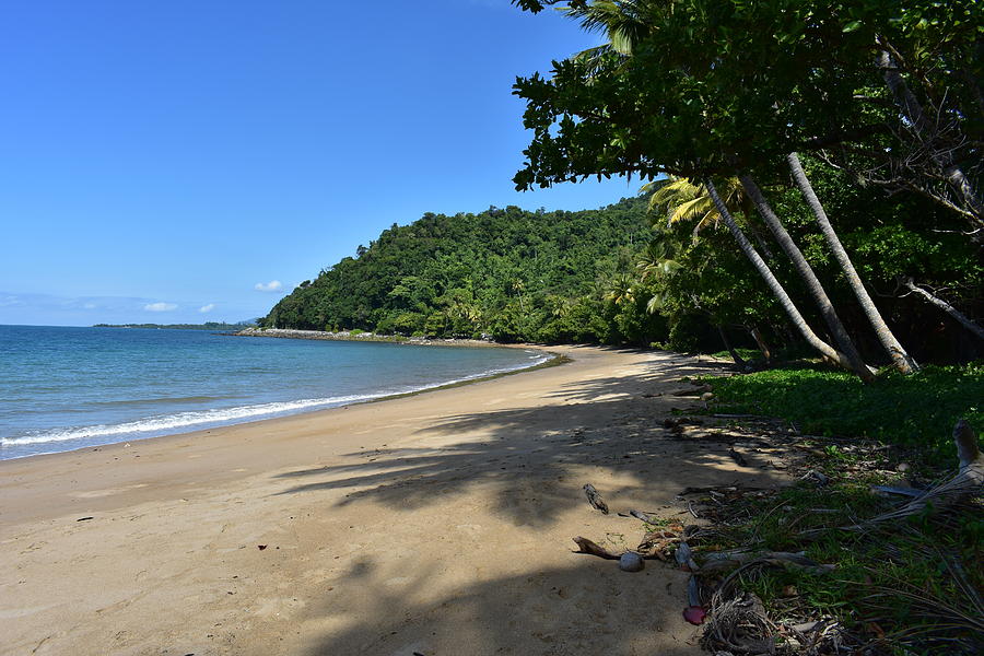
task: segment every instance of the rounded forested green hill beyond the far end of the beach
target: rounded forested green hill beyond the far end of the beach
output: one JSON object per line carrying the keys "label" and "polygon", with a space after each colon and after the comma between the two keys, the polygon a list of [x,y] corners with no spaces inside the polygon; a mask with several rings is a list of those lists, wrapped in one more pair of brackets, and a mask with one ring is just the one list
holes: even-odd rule
{"label": "rounded forested green hill beyond the far end of the beach", "polygon": [[[622,303],[651,238],[646,199],[598,210],[427,213],[305,281],[261,325],[531,341],[640,341],[651,317]],[[625,290],[621,290],[625,292]]]}

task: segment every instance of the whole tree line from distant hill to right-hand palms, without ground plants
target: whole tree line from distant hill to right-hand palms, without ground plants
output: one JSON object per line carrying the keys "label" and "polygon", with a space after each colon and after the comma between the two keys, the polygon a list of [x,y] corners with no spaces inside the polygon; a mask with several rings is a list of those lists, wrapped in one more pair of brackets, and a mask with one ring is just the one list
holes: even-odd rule
{"label": "whole tree line from distant hill to right-hand palms, without ground plants", "polygon": [[981,355],[980,3],[562,11],[606,43],[517,80],[517,188],[628,175],[640,198],[395,225],[263,325],[806,348],[865,379]]}

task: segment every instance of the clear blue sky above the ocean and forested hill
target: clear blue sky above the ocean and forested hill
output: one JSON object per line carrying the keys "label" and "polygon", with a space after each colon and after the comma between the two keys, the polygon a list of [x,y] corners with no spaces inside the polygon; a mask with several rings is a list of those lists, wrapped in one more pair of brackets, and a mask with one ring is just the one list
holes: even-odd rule
{"label": "clear blue sky above the ocean and forested hill", "polygon": [[508,0],[5,0],[0,324],[201,323],[424,212],[518,194],[517,74],[597,37]]}

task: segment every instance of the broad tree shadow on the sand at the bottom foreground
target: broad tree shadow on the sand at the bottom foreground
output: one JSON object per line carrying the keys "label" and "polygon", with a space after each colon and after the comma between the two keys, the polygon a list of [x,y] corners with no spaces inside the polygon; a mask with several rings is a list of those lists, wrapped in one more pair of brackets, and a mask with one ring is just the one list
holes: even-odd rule
{"label": "broad tree shadow on the sand at the bottom foreground", "polygon": [[[563,562],[563,558],[559,558]],[[699,629],[683,623],[687,575],[653,564],[639,574],[571,557],[567,566],[522,572],[440,596],[421,594],[438,574],[354,563],[338,589],[366,590],[315,602],[304,656],[695,656]],[[402,585],[387,585],[394,574]],[[337,590],[336,590],[337,591]],[[309,644],[312,644],[309,643]]]}

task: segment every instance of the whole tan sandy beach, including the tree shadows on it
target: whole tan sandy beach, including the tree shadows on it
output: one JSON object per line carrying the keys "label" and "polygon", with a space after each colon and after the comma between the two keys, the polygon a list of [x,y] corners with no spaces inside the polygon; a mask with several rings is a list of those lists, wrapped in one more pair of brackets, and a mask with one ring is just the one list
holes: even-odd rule
{"label": "whole tan sandy beach, including the tree shadows on it", "polygon": [[634,547],[619,511],[776,475],[664,429],[718,365],[552,350],[573,362],[0,462],[0,654],[699,654],[684,573],[571,538]]}

